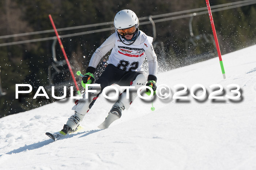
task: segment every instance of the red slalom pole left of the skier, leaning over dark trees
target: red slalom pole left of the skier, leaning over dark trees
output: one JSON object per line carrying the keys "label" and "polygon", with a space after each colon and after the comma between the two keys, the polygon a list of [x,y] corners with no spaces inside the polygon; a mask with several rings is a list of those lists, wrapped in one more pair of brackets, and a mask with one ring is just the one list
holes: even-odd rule
{"label": "red slalom pole left of the skier, leaning over dark trees", "polygon": [[53,22],[52,16],[51,16],[50,14],[49,14],[49,19],[50,19],[50,21],[51,21],[51,23],[52,23],[52,27],[53,27],[53,29],[54,29],[54,32],[55,32],[56,37],[57,37],[57,39],[58,39],[58,41],[59,41],[59,44],[60,44],[60,48],[61,48],[62,53],[63,53],[63,55],[64,55],[64,57],[65,57],[65,60],[66,60],[66,62],[67,62],[69,72],[71,73],[72,79],[73,79],[73,81],[74,81],[74,83],[75,83],[77,93],[80,95],[80,90],[79,90],[79,87],[78,87],[78,85],[77,85],[77,83],[76,83],[76,79],[75,79],[74,73],[73,73],[73,71],[72,71],[72,68],[71,68],[71,66],[70,66],[70,63],[69,63],[69,61],[68,61],[67,54],[66,54],[66,52],[65,52],[65,50],[64,50],[64,47],[63,47],[63,45],[62,45],[62,43],[61,43],[59,34],[58,34],[58,32],[57,32],[57,29],[56,29],[55,24],[54,24],[54,22]]}

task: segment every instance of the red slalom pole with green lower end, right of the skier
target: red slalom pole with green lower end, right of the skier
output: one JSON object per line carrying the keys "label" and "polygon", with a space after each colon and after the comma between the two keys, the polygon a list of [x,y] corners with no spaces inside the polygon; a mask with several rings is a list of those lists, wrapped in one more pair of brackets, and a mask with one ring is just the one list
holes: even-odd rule
{"label": "red slalom pole with green lower end, right of the skier", "polygon": [[219,42],[218,42],[218,38],[217,38],[217,34],[216,34],[216,30],[215,30],[215,26],[214,26],[214,22],[213,22],[213,18],[212,18],[209,0],[206,0],[206,5],[207,5],[207,9],[208,9],[208,13],[209,13],[210,21],[211,21],[211,28],[212,28],[212,32],[214,35],[214,40],[215,40],[218,56],[219,56],[219,63],[221,64],[221,71],[222,71],[223,79],[226,79],[226,74],[225,74],[225,70],[224,70],[224,66],[223,66],[223,62],[222,62],[222,58],[221,58],[221,50],[219,49]]}

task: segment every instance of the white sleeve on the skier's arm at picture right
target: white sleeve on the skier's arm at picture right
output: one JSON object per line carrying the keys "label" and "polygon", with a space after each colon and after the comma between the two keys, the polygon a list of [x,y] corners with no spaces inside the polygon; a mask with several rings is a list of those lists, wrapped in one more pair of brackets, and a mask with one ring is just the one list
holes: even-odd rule
{"label": "white sleeve on the skier's arm at picture right", "polygon": [[147,56],[147,61],[148,61],[148,73],[150,75],[156,76],[158,63],[157,63],[157,55],[155,54],[152,44],[151,44],[150,48],[148,48],[145,51],[145,54]]}

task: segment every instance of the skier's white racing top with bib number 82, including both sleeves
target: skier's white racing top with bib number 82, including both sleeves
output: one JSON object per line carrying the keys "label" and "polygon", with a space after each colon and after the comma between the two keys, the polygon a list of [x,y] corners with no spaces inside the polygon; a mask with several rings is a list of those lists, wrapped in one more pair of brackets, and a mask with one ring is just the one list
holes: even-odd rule
{"label": "skier's white racing top with bib number 82, including both sleeves", "polygon": [[[121,37],[121,36],[120,36]],[[143,71],[142,64],[145,56],[148,60],[148,72],[150,75],[157,74],[157,55],[152,46],[153,37],[147,36],[144,32],[139,31],[138,38],[131,45],[121,37],[117,32],[113,33],[106,41],[94,52],[91,57],[89,66],[96,68],[102,57],[112,48],[108,64],[120,68],[124,71]]]}

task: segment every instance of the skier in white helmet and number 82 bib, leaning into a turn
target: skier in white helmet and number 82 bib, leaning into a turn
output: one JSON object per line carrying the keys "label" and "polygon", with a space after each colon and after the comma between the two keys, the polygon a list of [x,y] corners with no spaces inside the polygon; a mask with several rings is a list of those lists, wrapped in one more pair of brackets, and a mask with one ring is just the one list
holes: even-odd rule
{"label": "skier in white helmet and number 82 bib, leaning into a turn", "polygon": [[[72,110],[75,110],[66,124],[64,124],[62,134],[72,132],[78,127],[83,120],[86,112],[93,106],[95,100],[101,94],[103,88],[116,83],[120,86],[134,86],[138,90],[141,86],[151,86],[155,91],[157,89],[157,56],[154,52],[152,41],[153,37],[147,36],[144,32],[139,30],[139,19],[136,14],[124,9],[117,12],[114,17],[115,33],[110,35],[105,42],[97,48],[91,57],[89,67],[87,67],[86,74],[82,78],[82,86],[94,82],[94,72],[102,57],[112,48],[112,52],[107,61],[108,65],[103,71],[102,75],[95,81],[99,87],[89,87],[93,92],[94,98],[87,98],[83,94],[83,98],[76,102]],[[142,71],[142,64],[145,56],[148,60],[149,75],[146,76]],[[148,91],[148,89],[147,89]],[[116,103],[109,111],[106,120],[99,126],[100,129],[108,128],[109,124],[121,117],[121,112],[128,109],[132,101],[136,98],[137,93],[132,94],[127,99],[126,90],[119,96]]]}

